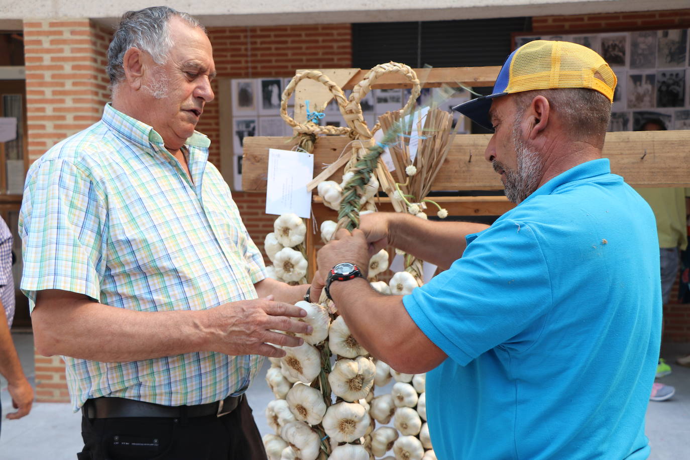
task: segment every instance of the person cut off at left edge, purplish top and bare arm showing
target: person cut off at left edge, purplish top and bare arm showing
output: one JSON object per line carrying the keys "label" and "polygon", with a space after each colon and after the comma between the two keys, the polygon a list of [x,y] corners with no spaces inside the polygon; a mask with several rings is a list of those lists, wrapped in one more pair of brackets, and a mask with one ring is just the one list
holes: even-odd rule
{"label": "person cut off at left edge, purplish top and bare arm showing", "polygon": [[[14,319],[14,279],[12,279],[12,232],[0,219],[0,302],[3,315],[0,316],[0,374],[7,379],[7,390],[12,397],[12,406],[17,412],[7,414],[8,419],[21,419],[31,411],[34,389],[26,379],[14,348],[12,319]],[[2,422],[0,402],[0,423]]]}

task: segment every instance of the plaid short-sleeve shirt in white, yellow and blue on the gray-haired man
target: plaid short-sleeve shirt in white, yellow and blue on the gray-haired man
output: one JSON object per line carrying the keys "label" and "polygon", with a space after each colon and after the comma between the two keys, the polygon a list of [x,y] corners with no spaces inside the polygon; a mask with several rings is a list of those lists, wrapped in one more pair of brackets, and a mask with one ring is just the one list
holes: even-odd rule
{"label": "plaid short-sleeve shirt in white, yellow and blue on the gray-haired man", "polygon": [[[108,104],[99,122],[33,163],[19,217],[30,308],[44,289],[145,312],[255,299],[264,261],[207,161],[209,144],[200,133],[187,140],[190,180],[153,128]],[[262,364],[215,352],[126,363],[63,358],[75,411],[101,396],[218,401],[244,390]]]}

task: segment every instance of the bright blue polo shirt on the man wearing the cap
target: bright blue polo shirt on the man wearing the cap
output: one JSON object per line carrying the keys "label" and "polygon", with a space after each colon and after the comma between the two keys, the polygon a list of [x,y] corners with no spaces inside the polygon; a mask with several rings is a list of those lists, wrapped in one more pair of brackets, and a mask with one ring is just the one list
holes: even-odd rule
{"label": "bright blue polo shirt on the man wearing the cap", "polygon": [[645,459],[659,357],[654,215],[608,159],[563,172],[403,298],[439,459]]}

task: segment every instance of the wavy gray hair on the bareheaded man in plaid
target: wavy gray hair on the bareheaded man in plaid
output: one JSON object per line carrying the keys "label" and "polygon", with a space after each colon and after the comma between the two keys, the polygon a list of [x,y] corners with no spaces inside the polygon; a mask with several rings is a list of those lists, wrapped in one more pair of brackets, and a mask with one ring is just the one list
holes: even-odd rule
{"label": "wavy gray hair on the bareheaded man in plaid", "polygon": [[168,52],[172,48],[168,26],[172,17],[179,17],[189,26],[198,27],[206,33],[206,28],[197,19],[167,6],[152,6],[139,11],[128,11],[122,15],[108,46],[106,70],[111,85],[124,79],[122,60],[127,50],[132,47],[148,52],[157,64],[166,63]]}

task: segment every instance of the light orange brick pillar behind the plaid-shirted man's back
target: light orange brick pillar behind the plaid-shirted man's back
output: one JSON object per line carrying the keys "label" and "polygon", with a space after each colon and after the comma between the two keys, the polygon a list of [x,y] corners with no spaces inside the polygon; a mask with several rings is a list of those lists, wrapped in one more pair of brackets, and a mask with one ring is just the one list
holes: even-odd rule
{"label": "light orange brick pillar behind the plaid-shirted man's back", "polygon": [[[98,121],[110,32],[88,19],[24,22],[29,161]],[[68,401],[64,363],[37,355],[37,401]]]}

